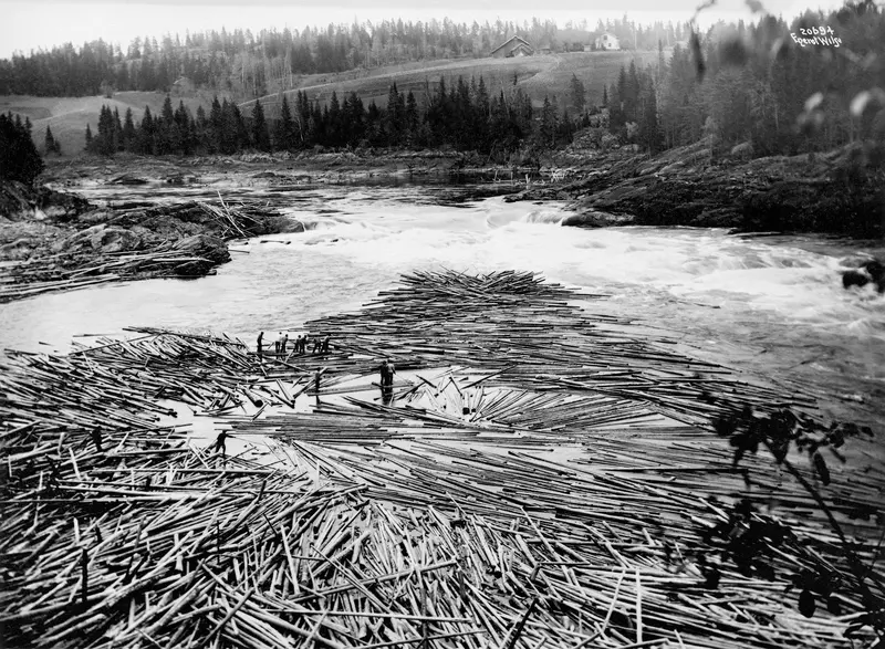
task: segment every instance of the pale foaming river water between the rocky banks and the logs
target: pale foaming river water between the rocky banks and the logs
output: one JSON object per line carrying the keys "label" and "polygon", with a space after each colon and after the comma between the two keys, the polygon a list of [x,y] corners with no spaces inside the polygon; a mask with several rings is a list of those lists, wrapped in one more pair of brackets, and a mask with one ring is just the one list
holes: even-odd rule
{"label": "pale foaming river water between the rocky banks and the logs", "polygon": [[[228,187],[226,200],[267,199],[306,230],[236,242],[233,261],[199,280],[103,285],[0,305],[0,348],[64,352],[88,342],[85,334],[117,336],[132,325],[212,329],[249,343],[264,331],[272,341],[314,317],[356,310],[417,269],[531,270],[608,295],[583,303],[590,311],[665,329],[688,354],[789,380],[818,396],[824,414],[881,428],[885,297],[868,287],[844,291],[840,271],[847,259],[881,255],[882,248],[726,230],[565,228],[564,203],[470,199],[472,189]],[[82,193],[133,198],[132,188]],[[192,193],[146,188],[135,198]]]}

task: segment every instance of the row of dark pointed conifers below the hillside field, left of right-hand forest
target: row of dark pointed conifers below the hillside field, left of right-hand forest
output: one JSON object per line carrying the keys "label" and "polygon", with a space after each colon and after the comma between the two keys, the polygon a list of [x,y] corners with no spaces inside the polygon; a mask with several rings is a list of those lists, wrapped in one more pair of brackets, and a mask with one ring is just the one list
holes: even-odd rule
{"label": "row of dark pointed conifers below the hillside field, left of right-hand forest", "polygon": [[[138,124],[131,108],[119,112],[103,106],[96,132],[86,126],[86,150],[101,155],[129,151],[143,155],[236,154],[243,150],[296,151],[316,146],[441,148],[476,150],[499,159],[523,145],[548,148],[571,142],[575,121],[568,106],[555,97],[545,98],[535,118],[531,100],[513,86],[489,93],[485,80],[449,83],[428,82],[426,101],[415,93],[389,87],[387,104],[368,105],[356,93],[339,100],[336,93],[321,105],[298,91],[290,103],[281,93],[273,105],[273,118],[261,101],[246,113],[235,102],[216,96],[208,113],[199,106],[195,115],[179,102],[174,108],[166,97],[159,115],[145,107]],[[267,103],[267,102],[266,102]]]}

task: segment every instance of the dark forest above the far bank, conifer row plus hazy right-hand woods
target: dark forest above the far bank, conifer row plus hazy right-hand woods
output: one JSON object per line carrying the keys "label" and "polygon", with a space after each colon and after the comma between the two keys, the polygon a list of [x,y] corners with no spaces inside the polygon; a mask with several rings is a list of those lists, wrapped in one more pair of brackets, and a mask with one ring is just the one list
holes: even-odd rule
{"label": "dark forest above the far bank, conifer row plus hazy right-hand woods", "polygon": [[[845,45],[801,46],[790,39],[810,25],[829,25]],[[520,150],[535,156],[593,126],[600,142],[610,135],[653,154],[705,140],[714,156],[795,155],[885,140],[884,43],[885,15],[866,0],[790,25],[770,15],[749,27],[719,25],[688,46],[677,44],[669,57],[659,42],[657,62],[622,67],[598,106],[586,105],[576,76],[569,96],[544,97],[540,109],[516,78],[492,94],[481,76],[440,77],[419,98],[391,86],[383,107],[364,105],[356,93],[323,105],[301,91],[279,93],[273,118],[259,101],[243,114],[235,102],[216,98],[208,113],[190,115],[167,98],[162,115],[146,111],[138,125],[131,112],[121,119],[106,108],[87,140],[101,154],[450,146],[502,160]]]}

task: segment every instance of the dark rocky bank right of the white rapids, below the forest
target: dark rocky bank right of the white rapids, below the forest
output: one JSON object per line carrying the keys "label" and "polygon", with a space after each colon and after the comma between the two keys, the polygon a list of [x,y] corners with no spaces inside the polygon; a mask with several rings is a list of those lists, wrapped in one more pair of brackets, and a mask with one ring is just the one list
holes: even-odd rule
{"label": "dark rocky bank right of the white rapids, below the forest", "polygon": [[579,143],[553,159],[562,181],[525,189],[510,200],[571,200],[579,213],[566,226],[885,235],[885,170],[860,145],[746,159],[737,153],[714,158],[702,143],[657,157],[603,154]]}

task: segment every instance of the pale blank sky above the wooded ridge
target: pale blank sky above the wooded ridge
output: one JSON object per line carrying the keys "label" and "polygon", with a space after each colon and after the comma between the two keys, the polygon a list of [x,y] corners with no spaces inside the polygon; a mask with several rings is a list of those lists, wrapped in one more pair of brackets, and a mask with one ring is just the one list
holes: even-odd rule
{"label": "pale blank sky above the wooded ridge", "polygon": [[[666,10],[660,0],[382,0],[366,3],[365,0],[0,0],[0,57],[13,52],[29,53],[31,50],[51,49],[72,42],[82,45],[86,41],[103,39],[119,44],[123,50],[136,36],[153,36],[178,33],[184,38],[189,31],[207,29],[228,30],[236,28],[303,29],[306,25],[326,27],[330,23],[353,23],[354,20],[379,21],[441,20],[445,17],[456,22],[470,23],[516,20],[522,22],[539,19],[556,21],[564,27],[569,20],[586,19],[591,25],[597,19],[620,18],[624,13],[637,23],[655,20],[687,20],[700,0],[668,0]],[[832,9],[841,0],[763,0],[766,9],[774,14],[790,18],[804,9]],[[702,23],[718,20],[751,20],[752,15],[743,0],[718,0],[715,8],[701,14]]]}

